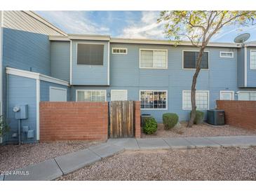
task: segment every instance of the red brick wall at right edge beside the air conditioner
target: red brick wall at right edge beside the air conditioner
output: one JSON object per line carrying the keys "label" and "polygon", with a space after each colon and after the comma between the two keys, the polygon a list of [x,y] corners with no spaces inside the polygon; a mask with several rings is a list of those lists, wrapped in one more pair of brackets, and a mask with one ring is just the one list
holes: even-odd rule
{"label": "red brick wall at right edge beside the air conditioner", "polygon": [[217,100],[217,109],[225,111],[228,125],[256,130],[256,101]]}

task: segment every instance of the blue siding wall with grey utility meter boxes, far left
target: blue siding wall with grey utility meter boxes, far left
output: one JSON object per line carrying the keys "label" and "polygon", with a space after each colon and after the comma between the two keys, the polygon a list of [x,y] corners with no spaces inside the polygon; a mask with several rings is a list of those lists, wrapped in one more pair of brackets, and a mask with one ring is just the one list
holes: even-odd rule
{"label": "blue siding wall with grey utility meter boxes, far left", "polygon": [[17,142],[18,137],[11,137],[13,132],[18,131],[18,120],[15,119],[13,107],[16,104],[28,104],[29,118],[22,120],[22,126],[29,126],[30,130],[34,130],[34,139],[25,139],[22,135],[23,142],[36,141],[36,80],[25,78],[22,76],[7,75],[8,90],[7,90],[7,121],[11,127],[11,132],[8,132],[6,138],[8,142]]}

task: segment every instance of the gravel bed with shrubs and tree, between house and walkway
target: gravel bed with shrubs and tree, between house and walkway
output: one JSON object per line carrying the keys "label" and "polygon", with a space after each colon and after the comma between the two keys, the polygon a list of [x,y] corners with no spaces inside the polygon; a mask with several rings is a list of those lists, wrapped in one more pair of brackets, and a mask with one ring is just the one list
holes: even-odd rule
{"label": "gravel bed with shrubs and tree, between house and walkway", "polygon": [[157,131],[154,135],[145,135],[142,133],[142,138],[149,137],[208,137],[208,136],[231,136],[231,135],[256,135],[256,130],[247,130],[236,128],[229,125],[210,126],[206,123],[194,125],[192,128],[187,128],[187,123],[181,123],[181,128],[173,128],[164,130],[163,124],[159,123]]}

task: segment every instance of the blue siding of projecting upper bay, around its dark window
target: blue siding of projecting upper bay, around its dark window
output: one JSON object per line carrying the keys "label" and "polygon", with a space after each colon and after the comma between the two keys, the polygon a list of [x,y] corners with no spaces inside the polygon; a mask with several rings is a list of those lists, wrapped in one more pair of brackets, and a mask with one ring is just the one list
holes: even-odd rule
{"label": "blue siding of projecting upper bay, around its dark window", "polygon": [[[77,43],[104,44],[104,59],[102,65],[76,64]],[[107,41],[72,41],[72,85],[107,85],[108,65]]]}

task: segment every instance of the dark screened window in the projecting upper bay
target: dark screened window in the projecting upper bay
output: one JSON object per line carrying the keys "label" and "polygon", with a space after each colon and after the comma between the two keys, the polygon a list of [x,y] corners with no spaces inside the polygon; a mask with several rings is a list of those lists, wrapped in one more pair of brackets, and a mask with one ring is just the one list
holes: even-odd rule
{"label": "dark screened window in the projecting upper bay", "polygon": [[104,45],[77,44],[77,64],[103,65]]}

